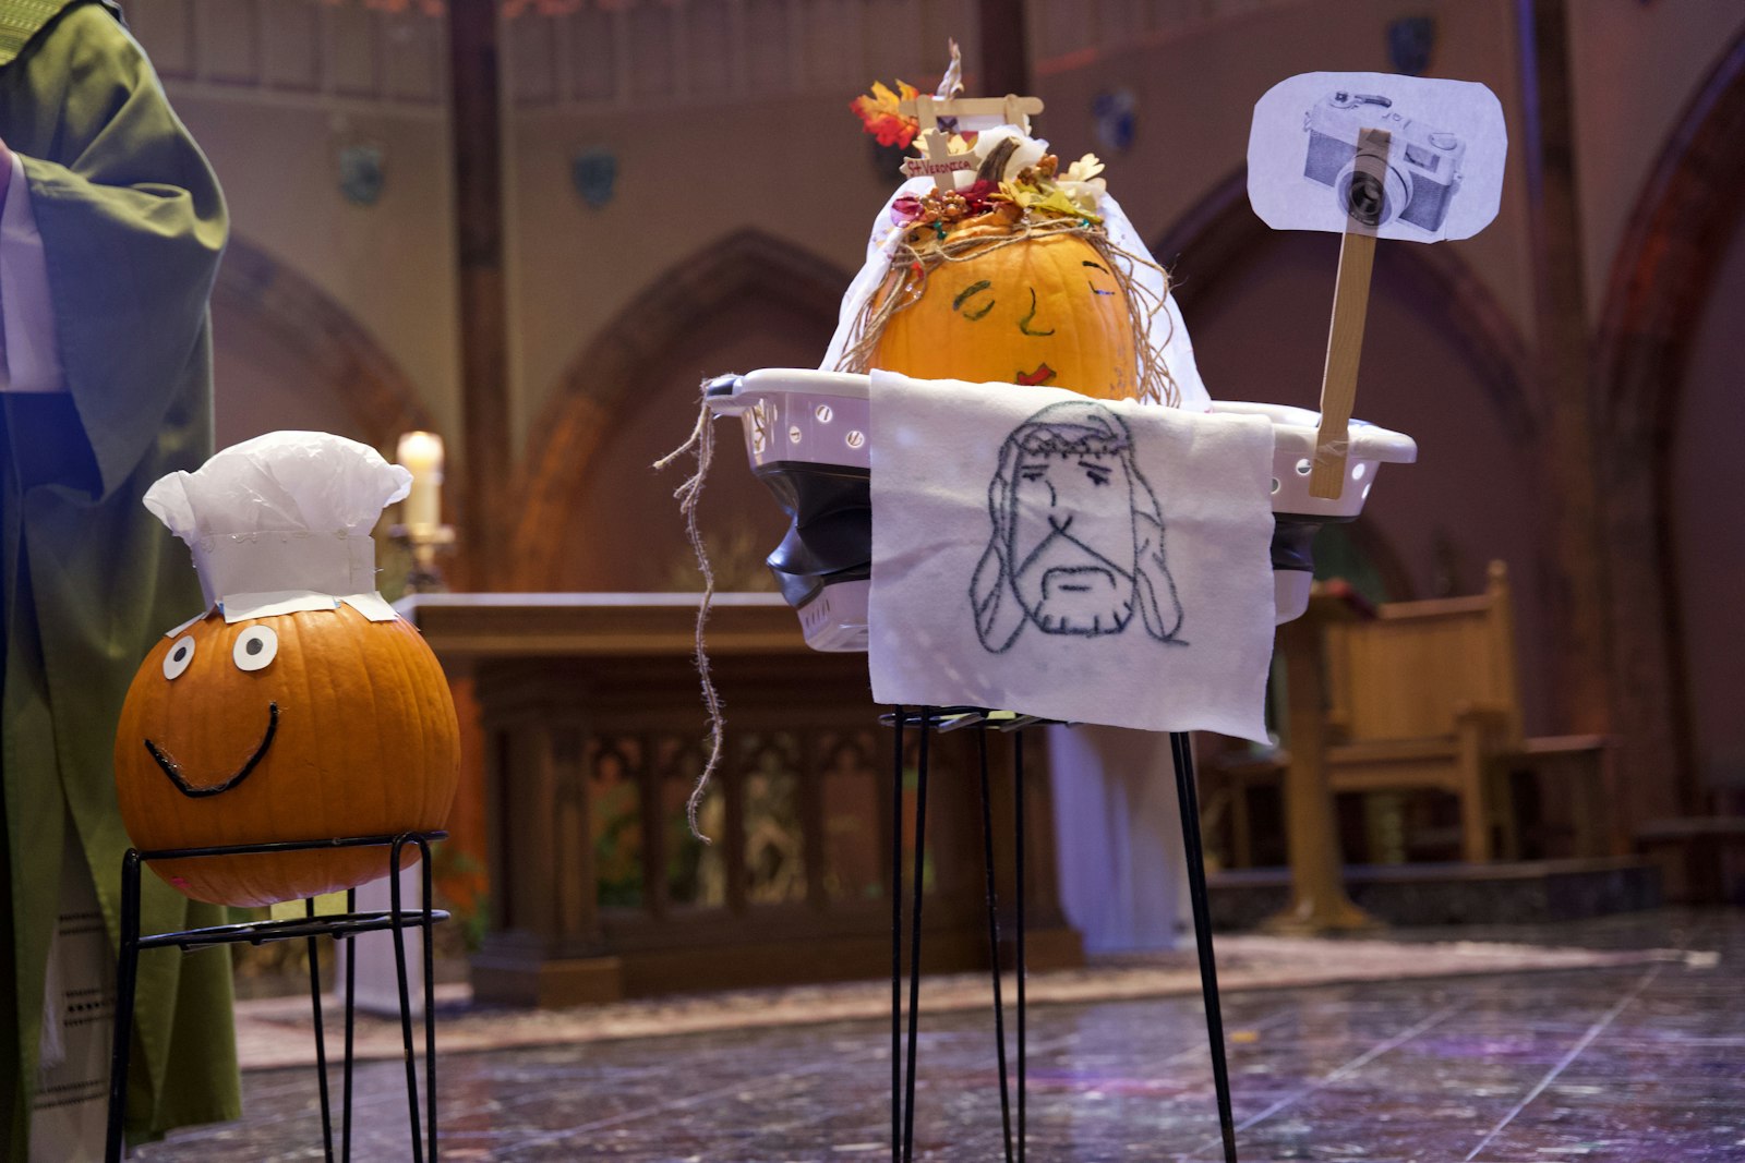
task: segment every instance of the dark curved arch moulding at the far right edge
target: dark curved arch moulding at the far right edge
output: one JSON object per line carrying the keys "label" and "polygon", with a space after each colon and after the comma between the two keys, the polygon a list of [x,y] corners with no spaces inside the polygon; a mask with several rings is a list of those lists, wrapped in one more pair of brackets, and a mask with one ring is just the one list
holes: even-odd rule
{"label": "dark curved arch moulding at the far right edge", "polygon": [[1684,664],[1696,628],[1677,600],[1670,453],[1700,309],[1742,220],[1745,37],[1708,73],[1649,169],[1595,342],[1614,727],[1639,821],[1701,806]]}

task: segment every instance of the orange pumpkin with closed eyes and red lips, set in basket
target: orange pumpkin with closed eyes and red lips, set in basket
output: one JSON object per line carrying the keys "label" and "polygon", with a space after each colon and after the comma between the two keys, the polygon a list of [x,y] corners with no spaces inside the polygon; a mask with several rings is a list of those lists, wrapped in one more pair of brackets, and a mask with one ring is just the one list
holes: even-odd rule
{"label": "orange pumpkin with closed eyes and red lips, set in basket", "polygon": [[1071,234],[934,267],[921,296],[892,312],[871,363],[923,380],[1139,394],[1127,293],[1096,248]]}

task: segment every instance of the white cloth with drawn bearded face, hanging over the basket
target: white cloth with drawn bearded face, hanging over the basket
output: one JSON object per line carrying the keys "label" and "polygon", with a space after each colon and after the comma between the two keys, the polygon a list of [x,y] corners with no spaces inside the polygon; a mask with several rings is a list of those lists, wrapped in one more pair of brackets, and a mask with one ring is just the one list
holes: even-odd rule
{"label": "white cloth with drawn bearded face, hanging over the basket", "polygon": [[872,697],[1265,739],[1272,425],[874,371]]}

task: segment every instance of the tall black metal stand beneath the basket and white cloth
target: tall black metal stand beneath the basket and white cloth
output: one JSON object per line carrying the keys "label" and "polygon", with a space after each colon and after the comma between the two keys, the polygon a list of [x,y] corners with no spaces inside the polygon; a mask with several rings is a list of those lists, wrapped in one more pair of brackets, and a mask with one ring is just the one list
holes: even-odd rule
{"label": "tall black metal stand beneath the basket and white cloth", "polygon": [[[893,731],[895,771],[892,772],[892,956],[890,956],[890,1158],[892,1163],[913,1163],[914,1158],[914,1074],[916,1029],[921,992],[921,877],[927,837],[927,776],[928,738],[934,731],[974,727],[981,734],[981,800],[982,800],[982,856],[988,882],[988,959],[993,973],[993,1022],[1000,1067],[1000,1121],[1005,1142],[1005,1161],[1024,1163],[1026,1130],[1026,1055],[1024,1055],[1024,736],[1023,727],[1044,722],[1035,717],[984,711],[979,708],[892,708],[883,718]],[[907,1062],[902,1046],[902,734],[906,727],[921,731],[916,757],[914,785],[914,888],[909,915],[909,1041]],[[988,786],[988,731],[1014,732],[1012,779],[1016,816],[1017,865],[1017,1119],[1012,1119],[1012,1095],[1007,1081],[1005,1004],[1000,983],[1000,919],[995,896],[993,868],[993,807]],[[1213,1088],[1218,1102],[1218,1132],[1223,1139],[1225,1163],[1235,1160],[1235,1123],[1230,1114],[1230,1072],[1223,1048],[1223,1008],[1218,1001],[1218,964],[1213,957],[1211,907],[1206,896],[1206,858],[1201,847],[1199,793],[1194,785],[1194,750],[1185,732],[1169,736],[1171,758],[1176,771],[1176,795],[1181,802],[1181,839],[1187,849],[1188,898],[1194,908],[1194,938],[1199,949],[1201,996],[1206,1003],[1206,1041],[1211,1050]],[[1016,1132],[1016,1133],[1014,1133]]]}

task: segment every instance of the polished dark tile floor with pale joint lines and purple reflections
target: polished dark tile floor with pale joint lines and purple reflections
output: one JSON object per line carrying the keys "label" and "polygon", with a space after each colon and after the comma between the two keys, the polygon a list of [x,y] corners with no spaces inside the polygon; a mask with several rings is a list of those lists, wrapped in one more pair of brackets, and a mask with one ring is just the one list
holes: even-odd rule
{"label": "polished dark tile floor with pale joint lines and purple reflections", "polygon": [[[1745,910],[1393,933],[1684,959],[1225,996],[1239,1158],[1745,1161]],[[918,1160],[1003,1158],[991,1015],[923,1015]],[[1010,1032],[1010,1018],[1009,1032]],[[443,1160],[890,1158],[888,1022],[448,1055]],[[358,1074],[354,1160],[408,1160],[405,1072]],[[318,1160],[311,1071],[133,1158]],[[1222,1160],[1190,997],[1030,1013],[1028,1160]]]}

